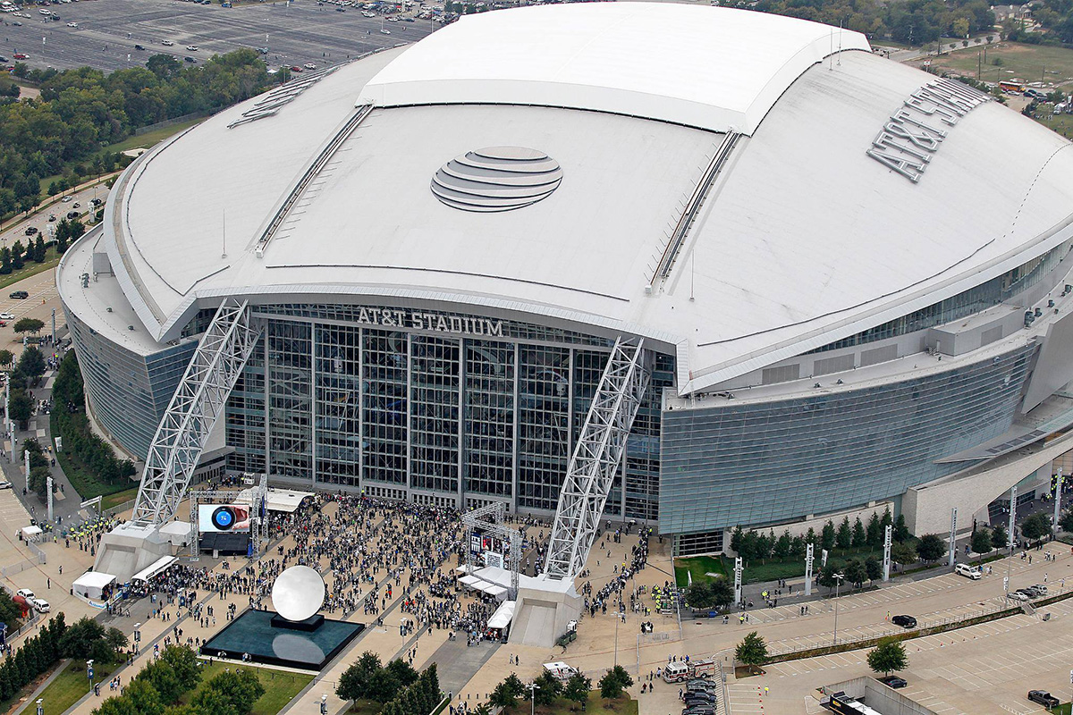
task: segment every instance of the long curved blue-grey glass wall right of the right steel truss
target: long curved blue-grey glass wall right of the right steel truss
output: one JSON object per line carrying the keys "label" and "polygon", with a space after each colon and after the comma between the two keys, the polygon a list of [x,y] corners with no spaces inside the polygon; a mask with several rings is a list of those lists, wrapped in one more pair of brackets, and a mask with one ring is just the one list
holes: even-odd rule
{"label": "long curved blue-grey glass wall right of the right steel truss", "polygon": [[664,412],[660,533],[825,513],[955,472],[935,460],[1010,428],[1034,349],[878,387]]}

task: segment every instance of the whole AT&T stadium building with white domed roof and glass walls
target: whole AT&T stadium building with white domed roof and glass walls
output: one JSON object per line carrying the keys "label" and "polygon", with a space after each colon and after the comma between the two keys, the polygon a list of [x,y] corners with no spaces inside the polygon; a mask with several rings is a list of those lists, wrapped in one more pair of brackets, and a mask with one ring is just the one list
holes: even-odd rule
{"label": "whole AT&T stadium building with white domed roof and glass walls", "polygon": [[58,283],[97,423],[171,470],[147,521],[199,460],[548,517],[597,444],[596,518],[688,554],[884,508],[967,530],[1049,470],[1071,206],[1065,139],[859,33],[545,5],[158,145]]}

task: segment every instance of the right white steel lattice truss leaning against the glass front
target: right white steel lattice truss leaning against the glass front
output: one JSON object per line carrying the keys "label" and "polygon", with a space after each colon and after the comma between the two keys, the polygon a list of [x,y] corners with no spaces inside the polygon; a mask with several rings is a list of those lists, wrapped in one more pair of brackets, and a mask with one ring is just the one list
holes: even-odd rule
{"label": "right white steel lattice truss leaning against the glass front", "polygon": [[607,493],[626,453],[630,428],[648,387],[643,346],[644,340],[635,344],[617,340],[600,377],[559,495],[544,566],[549,578],[573,579],[585,567]]}

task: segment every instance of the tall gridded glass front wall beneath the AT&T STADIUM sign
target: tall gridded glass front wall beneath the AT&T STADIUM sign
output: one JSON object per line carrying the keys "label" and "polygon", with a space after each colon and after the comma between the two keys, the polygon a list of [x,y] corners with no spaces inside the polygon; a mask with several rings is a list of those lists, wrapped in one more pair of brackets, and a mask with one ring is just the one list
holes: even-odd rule
{"label": "tall gridded glass front wall beneath the AT&T STADIUM sign", "polygon": [[[362,310],[254,309],[265,332],[227,402],[229,468],[432,504],[554,511],[612,342]],[[424,330],[412,328],[414,315]],[[657,515],[660,390],[674,382],[674,358],[652,357],[652,388],[607,515]]]}

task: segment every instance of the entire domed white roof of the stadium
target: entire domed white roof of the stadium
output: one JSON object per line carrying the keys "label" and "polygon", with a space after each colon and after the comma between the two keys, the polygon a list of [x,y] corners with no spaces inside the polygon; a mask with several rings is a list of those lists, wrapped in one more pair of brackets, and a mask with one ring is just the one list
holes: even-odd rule
{"label": "entire domed white roof of the stadium", "polygon": [[[83,241],[64,256],[61,295],[134,349],[176,338],[225,295],[435,303],[636,333],[677,351],[687,393],[956,295],[1070,235],[1069,141],[987,102],[954,125],[923,122],[944,138],[908,180],[866,151],[936,77],[862,50],[824,60],[824,43],[838,47],[831,36],[803,20],[673,3],[465,17],[341,66],[274,116],[229,129],[252,102],[232,107],[143,155],[113,191],[99,243],[115,281],[80,287],[93,251]],[[842,48],[854,42],[844,33]],[[503,43],[517,54],[480,62]],[[378,106],[259,253],[359,98]],[[730,128],[745,136],[653,280]],[[559,183],[490,213],[433,193],[433,177],[493,172],[481,151],[503,147],[546,154]],[[511,176],[487,200],[541,181]],[[147,334],[128,331],[130,310],[113,311],[120,288]]]}

